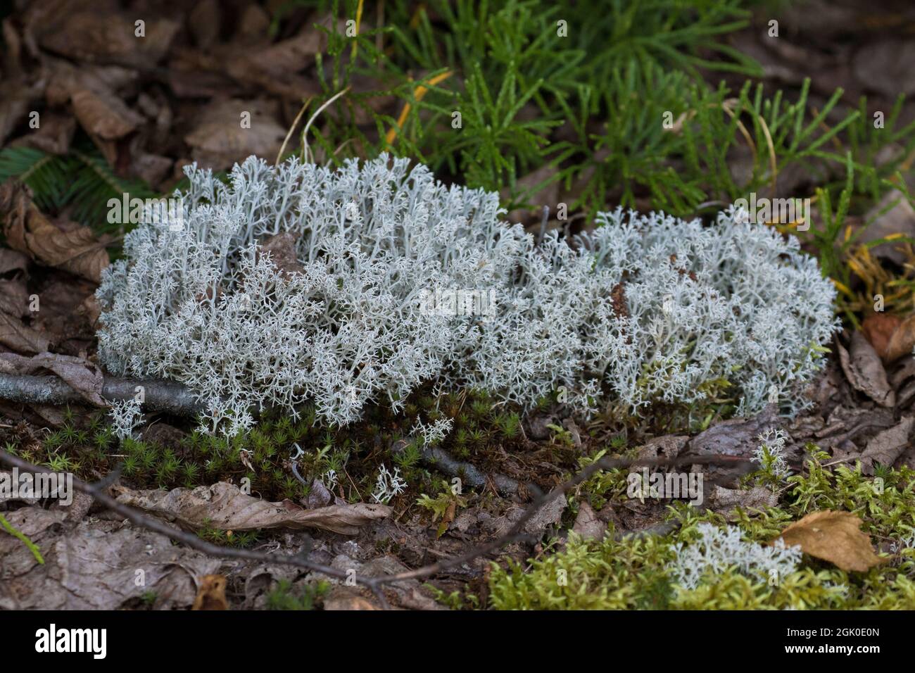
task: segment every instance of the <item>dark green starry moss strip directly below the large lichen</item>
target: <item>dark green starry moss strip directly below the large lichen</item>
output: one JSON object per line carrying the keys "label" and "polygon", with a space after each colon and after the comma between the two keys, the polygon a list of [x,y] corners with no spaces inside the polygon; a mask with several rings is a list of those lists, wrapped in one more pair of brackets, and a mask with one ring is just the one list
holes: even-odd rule
{"label": "dark green starry moss strip directly below the large lichen", "polygon": [[[12,431],[0,430],[0,448],[90,482],[120,466],[124,483],[133,488],[194,488],[247,478],[252,494],[274,501],[306,497],[307,484],[318,478],[335,492],[342,490],[350,501],[364,499],[386,462],[398,467],[412,487],[403,496],[409,503],[421,493],[436,491],[441,479],[420,464],[421,440],[394,455],[388,450],[410,436],[420,421],[450,419],[455,430],[442,441],[443,448],[482,470],[499,471],[504,452],[524,443],[517,411],[474,391],[435,396],[425,386],[407,398],[403,413],[372,405],[361,422],[343,429],[321,423],[314,407],[297,412],[298,418],[291,418],[266,411],[257,426],[232,438],[175,430],[151,435],[144,430],[118,440],[104,412],[78,416],[68,408],[64,424],[40,441],[19,440]],[[305,483],[290,470],[294,457]],[[330,471],[337,475],[336,485],[327,478]]]}

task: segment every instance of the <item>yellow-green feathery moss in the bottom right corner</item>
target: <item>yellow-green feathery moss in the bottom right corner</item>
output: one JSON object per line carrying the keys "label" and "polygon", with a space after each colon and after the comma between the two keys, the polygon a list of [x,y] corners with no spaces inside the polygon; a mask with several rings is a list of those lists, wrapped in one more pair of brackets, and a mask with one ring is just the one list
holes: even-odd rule
{"label": "yellow-green feathery moss in the bottom right corner", "polygon": [[[846,572],[804,556],[794,572],[774,585],[736,567],[711,574],[693,590],[673,580],[675,545],[694,542],[701,522],[727,526],[725,516],[695,516],[671,508],[682,526],[667,537],[603,541],[575,534],[527,564],[509,562],[490,575],[489,605],[496,609],[915,609],[915,471],[881,469],[867,477],[860,466],[823,466],[813,450],[802,475],[789,478],[778,507],[737,509],[731,516],[744,540],[767,543],[791,521],[813,511],[841,509],[860,516],[862,530],[886,560],[867,572]],[[881,481],[882,480],[882,483]]]}

